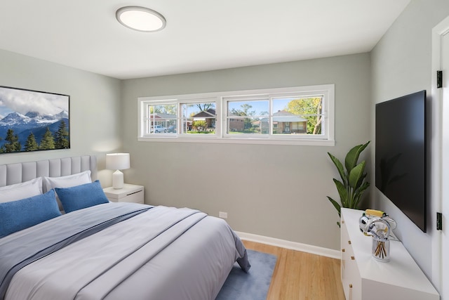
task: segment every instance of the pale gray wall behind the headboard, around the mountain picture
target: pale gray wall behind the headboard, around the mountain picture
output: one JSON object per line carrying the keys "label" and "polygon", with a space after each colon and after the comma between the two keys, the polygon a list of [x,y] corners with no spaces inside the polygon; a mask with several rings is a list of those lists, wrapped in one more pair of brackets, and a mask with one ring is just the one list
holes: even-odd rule
{"label": "pale gray wall behind the headboard, around the mountain picture", "polygon": [[0,155],[0,164],[37,159],[98,156],[98,178],[112,185],[105,152],[121,148],[120,81],[45,60],[0,50],[0,85],[70,96],[69,150]]}

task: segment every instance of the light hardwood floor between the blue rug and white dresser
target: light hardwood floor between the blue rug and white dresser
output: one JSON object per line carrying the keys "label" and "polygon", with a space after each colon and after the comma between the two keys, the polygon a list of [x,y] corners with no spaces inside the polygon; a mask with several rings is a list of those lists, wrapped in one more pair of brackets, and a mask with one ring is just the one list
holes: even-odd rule
{"label": "light hardwood floor between the blue rug and white dresser", "polygon": [[243,244],[278,258],[267,300],[344,300],[339,259],[246,240]]}

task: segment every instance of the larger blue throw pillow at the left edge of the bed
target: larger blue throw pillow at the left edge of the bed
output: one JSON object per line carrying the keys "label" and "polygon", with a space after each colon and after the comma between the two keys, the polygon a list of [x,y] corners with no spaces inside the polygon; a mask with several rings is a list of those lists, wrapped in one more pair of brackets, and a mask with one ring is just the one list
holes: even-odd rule
{"label": "larger blue throw pillow at the left edge of the bed", "polygon": [[60,216],[55,191],[0,203],[0,237]]}

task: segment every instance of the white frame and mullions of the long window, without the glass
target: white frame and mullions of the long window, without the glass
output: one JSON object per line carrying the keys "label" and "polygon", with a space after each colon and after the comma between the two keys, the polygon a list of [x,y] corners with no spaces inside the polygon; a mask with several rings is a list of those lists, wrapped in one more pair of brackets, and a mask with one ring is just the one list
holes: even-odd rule
{"label": "white frame and mullions of the long window, without the glass", "polygon": [[[248,134],[236,136],[227,133],[227,102],[239,98],[259,98],[269,96],[270,129],[268,134]],[[285,96],[323,96],[323,134],[273,134],[273,99]],[[182,122],[181,105],[186,103],[215,102],[215,134],[180,133]],[[177,104],[176,133],[146,133],[145,111],[147,105]],[[335,145],[335,84],[316,86],[295,86],[275,89],[257,89],[246,91],[225,91],[214,93],[196,93],[177,96],[138,97],[138,141],[189,142],[189,143],[243,143],[272,145]]]}

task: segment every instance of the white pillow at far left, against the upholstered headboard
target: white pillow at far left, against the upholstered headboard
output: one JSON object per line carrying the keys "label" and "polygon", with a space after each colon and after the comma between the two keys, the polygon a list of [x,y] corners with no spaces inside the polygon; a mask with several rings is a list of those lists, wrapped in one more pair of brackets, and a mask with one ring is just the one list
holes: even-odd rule
{"label": "white pillow at far left, against the upholstered headboard", "polygon": [[42,194],[42,177],[0,188],[0,202],[10,202]]}

